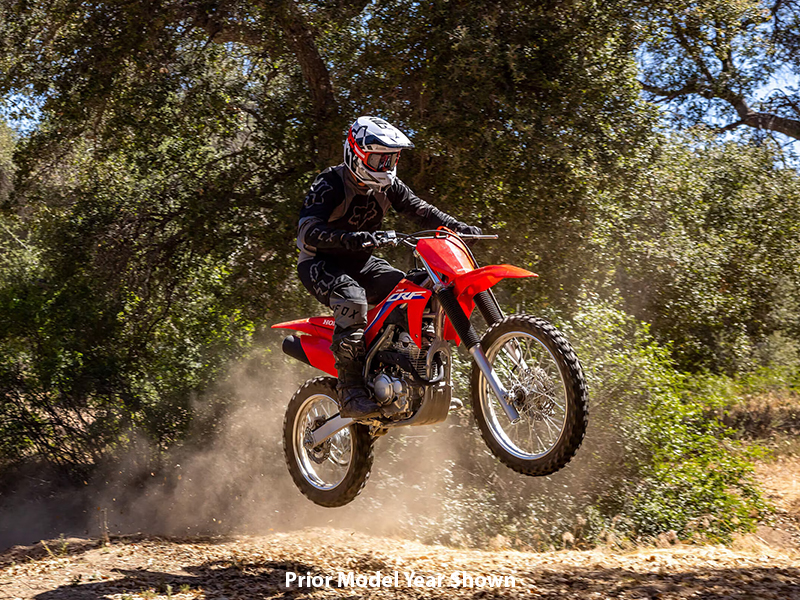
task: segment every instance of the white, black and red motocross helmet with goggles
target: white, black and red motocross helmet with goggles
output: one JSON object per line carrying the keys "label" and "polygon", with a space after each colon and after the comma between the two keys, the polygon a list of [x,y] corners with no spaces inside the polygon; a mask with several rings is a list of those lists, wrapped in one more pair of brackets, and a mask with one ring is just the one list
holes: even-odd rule
{"label": "white, black and red motocross helmet with goggles", "polygon": [[397,175],[403,148],[414,144],[399,129],[377,117],[359,117],[344,142],[344,164],[371,190],[388,188]]}

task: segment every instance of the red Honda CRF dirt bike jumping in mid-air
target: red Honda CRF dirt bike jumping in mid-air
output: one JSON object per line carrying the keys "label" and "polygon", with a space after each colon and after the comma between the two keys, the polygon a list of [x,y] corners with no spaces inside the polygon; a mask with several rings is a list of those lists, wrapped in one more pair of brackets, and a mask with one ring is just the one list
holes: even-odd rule
{"label": "red Honda CRF dirt bike jumping in mid-air", "polygon": [[[564,467],[588,419],[580,362],[544,319],[504,316],[490,289],[505,278],[537,275],[511,265],[479,268],[464,240],[496,235],[444,228],[381,233],[379,245],[413,248],[421,268],[367,314],[364,380],[380,416],[353,421],[339,415],[332,317],[273,325],[302,334],[284,339],[286,354],[331,375],[303,384],[286,411],[284,454],[300,491],[322,506],[347,504],[369,477],[376,438],[396,427],[444,421],[453,400],[451,343],[463,343],[472,357],[472,410],[491,451],[525,475]],[[489,325],[483,338],[470,323],[475,307]]]}

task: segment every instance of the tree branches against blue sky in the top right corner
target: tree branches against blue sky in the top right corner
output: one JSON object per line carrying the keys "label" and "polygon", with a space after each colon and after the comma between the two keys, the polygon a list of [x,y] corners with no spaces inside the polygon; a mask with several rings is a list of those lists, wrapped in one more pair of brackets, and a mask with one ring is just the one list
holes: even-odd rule
{"label": "tree branches against blue sky in the top right corner", "polygon": [[[800,95],[782,80],[800,73],[794,0],[648,2],[642,89],[719,132],[746,126],[800,139]],[[782,83],[766,98],[763,88]]]}

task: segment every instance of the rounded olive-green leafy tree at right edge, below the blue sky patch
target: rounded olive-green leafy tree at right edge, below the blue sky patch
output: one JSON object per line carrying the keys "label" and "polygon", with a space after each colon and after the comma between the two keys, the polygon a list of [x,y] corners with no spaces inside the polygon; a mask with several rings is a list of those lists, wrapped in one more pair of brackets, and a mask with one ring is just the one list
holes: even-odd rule
{"label": "rounded olive-green leafy tree at right edge, below the blue sky patch", "polygon": [[798,209],[800,178],[769,145],[674,137],[608,198],[595,240],[627,310],[682,368],[747,371],[795,360]]}

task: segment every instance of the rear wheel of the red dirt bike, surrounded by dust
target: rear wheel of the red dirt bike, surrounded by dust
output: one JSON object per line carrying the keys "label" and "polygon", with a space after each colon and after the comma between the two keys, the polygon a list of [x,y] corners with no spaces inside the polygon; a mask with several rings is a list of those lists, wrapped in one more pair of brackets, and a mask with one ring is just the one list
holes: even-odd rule
{"label": "rear wheel of the red dirt bike, surrounded by dust", "polygon": [[308,433],[339,412],[336,379],[307,381],[289,401],[283,421],[286,466],[298,489],[325,507],[344,506],[364,488],[372,469],[369,428],[354,423],[316,448],[308,447]]}

